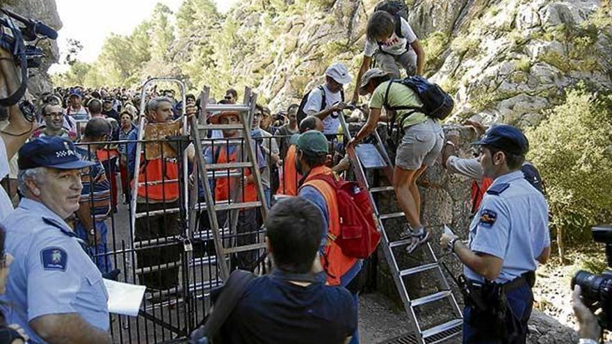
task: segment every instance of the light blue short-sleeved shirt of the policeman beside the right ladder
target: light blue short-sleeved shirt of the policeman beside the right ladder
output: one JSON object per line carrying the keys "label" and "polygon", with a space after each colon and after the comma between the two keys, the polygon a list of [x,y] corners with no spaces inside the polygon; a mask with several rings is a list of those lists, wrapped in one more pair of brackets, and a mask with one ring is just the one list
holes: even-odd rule
{"label": "light blue short-sleeved shirt of the policeman beside the right ladder", "polygon": [[[535,271],[536,259],[550,246],[548,206],[520,170],[497,177],[469,226],[469,248],[502,259],[498,283]],[[483,281],[464,268],[468,279]]]}

